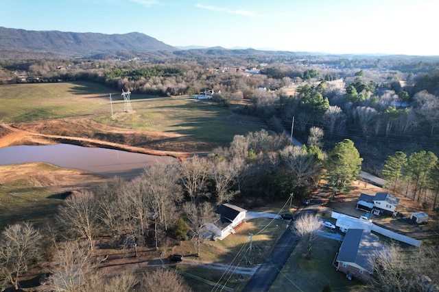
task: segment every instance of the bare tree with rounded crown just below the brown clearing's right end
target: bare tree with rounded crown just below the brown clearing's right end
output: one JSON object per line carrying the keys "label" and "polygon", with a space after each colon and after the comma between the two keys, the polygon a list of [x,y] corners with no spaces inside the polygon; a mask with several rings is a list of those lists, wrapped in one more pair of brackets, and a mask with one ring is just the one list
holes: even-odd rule
{"label": "bare tree with rounded crown just below the brown clearing's right end", "polygon": [[79,236],[88,241],[93,250],[93,239],[98,221],[97,202],[93,194],[84,191],[72,194],[64,201],[56,215],[58,224],[73,236]]}

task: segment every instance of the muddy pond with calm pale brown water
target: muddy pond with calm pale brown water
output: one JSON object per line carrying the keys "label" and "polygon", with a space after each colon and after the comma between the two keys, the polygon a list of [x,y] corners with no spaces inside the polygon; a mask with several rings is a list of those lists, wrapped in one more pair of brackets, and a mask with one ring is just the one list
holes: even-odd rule
{"label": "muddy pond with calm pale brown water", "polygon": [[102,176],[132,178],[158,161],[176,162],[174,157],[147,155],[71,144],[10,146],[0,148],[0,165],[45,162],[60,168],[85,170]]}

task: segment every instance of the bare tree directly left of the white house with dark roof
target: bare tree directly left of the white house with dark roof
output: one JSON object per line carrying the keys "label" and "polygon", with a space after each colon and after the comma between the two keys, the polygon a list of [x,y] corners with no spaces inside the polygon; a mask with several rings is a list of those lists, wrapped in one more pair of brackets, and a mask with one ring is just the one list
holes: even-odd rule
{"label": "bare tree directly left of the white house with dark roof", "polygon": [[200,243],[202,241],[202,234],[206,230],[206,224],[213,222],[215,213],[213,207],[209,202],[202,202],[196,205],[193,202],[186,202],[183,204],[183,210],[189,220],[189,229],[193,233],[195,239],[195,246],[197,248],[197,256],[200,256]]}

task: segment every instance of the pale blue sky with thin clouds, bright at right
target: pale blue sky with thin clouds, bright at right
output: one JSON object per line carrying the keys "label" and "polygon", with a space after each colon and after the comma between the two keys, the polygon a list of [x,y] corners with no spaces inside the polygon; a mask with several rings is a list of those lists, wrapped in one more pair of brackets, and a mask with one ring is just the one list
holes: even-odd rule
{"label": "pale blue sky with thin clouds, bright at right", "polygon": [[438,0],[0,0],[0,27],[137,31],[174,47],[439,55],[438,12]]}

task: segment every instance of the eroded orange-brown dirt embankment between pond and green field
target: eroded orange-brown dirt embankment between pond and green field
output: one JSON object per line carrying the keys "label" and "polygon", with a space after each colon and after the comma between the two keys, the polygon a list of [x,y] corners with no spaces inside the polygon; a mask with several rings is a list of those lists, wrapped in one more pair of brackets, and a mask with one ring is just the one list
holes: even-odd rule
{"label": "eroded orange-brown dirt embankment between pond and green field", "polygon": [[25,124],[0,124],[0,148],[17,145],[75,144],[185,159],[206,152],[212,145],[184,135],[121,129],[91,120],[50,120]]}

